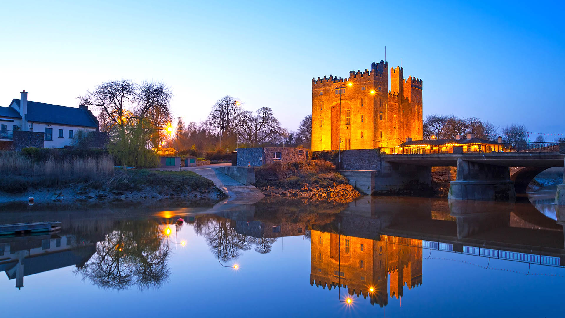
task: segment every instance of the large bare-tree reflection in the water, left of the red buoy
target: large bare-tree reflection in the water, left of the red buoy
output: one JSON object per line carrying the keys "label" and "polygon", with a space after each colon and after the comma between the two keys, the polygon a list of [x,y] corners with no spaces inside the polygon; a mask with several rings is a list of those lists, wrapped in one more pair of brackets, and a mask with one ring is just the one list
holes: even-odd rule
{"label": "large bare-tree reflection in the water, left of the red buoy", "polygon": [[105,289],[158,288],[168,281],[170,252],[168,240],[154,221],[120,222],[75,273]]}

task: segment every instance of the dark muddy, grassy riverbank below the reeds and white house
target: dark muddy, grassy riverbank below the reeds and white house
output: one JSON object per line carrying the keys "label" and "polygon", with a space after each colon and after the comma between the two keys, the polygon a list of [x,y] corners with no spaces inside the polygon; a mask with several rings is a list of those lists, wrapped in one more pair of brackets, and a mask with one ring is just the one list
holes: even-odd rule
{"label": "dark muddy, grassy riverbank below the reeds and white house", "polygon": [[5,189],[9,192],[0,191],[2,206],[27,204],[30,196],[34,205],[57,207],[211,205],[225,198],[213,182],[192,171],[116,170],[111,177],[96,181],[58,182],[50,186],[33,178],[12,177],[19,186]]}

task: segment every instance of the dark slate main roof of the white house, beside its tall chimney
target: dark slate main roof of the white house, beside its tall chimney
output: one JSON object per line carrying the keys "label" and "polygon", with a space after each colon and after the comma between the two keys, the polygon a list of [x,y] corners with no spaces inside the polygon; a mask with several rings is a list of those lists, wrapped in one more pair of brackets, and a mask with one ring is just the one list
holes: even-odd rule
{"label": "dark slate main roof of the white house, beside its tall chimney", "polygon": [[[20,106],[20,100],[14,98],[12,102],[15,102],[18,107]],[[42,102],[28,101],[28,115],[26,119],[28,122],[98,128],[98,123],[89,110]]]}

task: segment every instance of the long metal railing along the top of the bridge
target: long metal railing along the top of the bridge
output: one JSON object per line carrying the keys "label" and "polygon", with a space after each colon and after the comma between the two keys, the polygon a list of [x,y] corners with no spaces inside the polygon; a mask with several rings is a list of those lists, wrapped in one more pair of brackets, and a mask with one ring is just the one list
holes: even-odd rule
{"label": "long metal railing along the top of the bridge", "polygon": [[383,147],[381,154],[464,154],[464,153],[516,153],[565,152],[565,142],[507,143],[507,144],[446,144],[411,145],[408,147]]}

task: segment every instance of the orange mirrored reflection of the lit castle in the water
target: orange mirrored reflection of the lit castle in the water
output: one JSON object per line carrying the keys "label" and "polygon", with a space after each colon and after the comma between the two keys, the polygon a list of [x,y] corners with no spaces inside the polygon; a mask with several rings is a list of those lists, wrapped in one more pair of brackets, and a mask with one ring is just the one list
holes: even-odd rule
{"label": "orange mirrored reflection of the lit castle in the water", "polygon": [[404,286],[422,283],[421,240],[388,235],[372,240],[312,230],[310,252],[310,285],[341,287],[380,307],[386,306],[388,295],[402,298]]}

